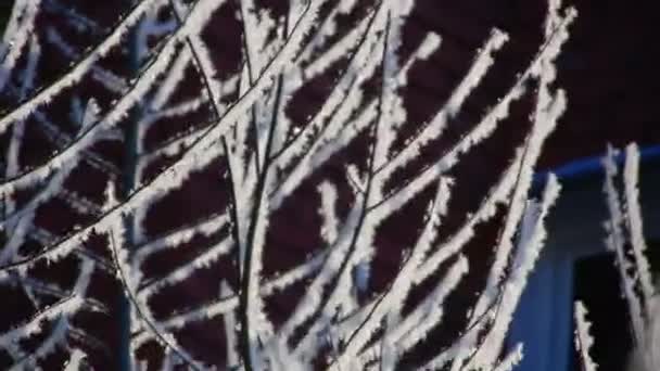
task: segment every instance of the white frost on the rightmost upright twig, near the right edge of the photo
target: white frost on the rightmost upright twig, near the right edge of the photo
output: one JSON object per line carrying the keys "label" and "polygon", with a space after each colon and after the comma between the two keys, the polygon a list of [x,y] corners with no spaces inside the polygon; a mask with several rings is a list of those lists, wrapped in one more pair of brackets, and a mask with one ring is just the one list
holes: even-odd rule
{"label": "white frost on the rightmost upright twig, near the right edge of the photo", "polygon": [[625,191],[625,215],[627,216],[629,235],[637,270],[646,315],[650,314],[650,298],[655,294],[651,283],[651,273],[648,259],[646,258],[646,242],[642,222],[642,208],[639,206],[639,190],[637,188],[639,178],[639,150],[636,144],[630,144],[625,149],[625,165],[623,169],[623,184]]}

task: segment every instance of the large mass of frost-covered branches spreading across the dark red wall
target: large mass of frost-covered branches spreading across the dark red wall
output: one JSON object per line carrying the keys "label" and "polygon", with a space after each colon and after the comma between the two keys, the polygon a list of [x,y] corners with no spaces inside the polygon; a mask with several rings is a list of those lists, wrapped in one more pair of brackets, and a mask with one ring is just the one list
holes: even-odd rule
{"label": "large mass of frost-covered branches spreading across the dark red wall", "polygon": [[[126,348],[132,353],[124,356],[136,367],[151,367],[157,356],[144,349],[155,344],[163,369],[202,370],[221,358],[215,367],[248,371],[373,364],[395,370],[448,321],[446,308],[467,278],[484,273],[485,286],[465,331],[418,366],[512,369],[522,348],[503,358],[502,346],[559,193],[549,177],[542,197],[529,200],[544,141],[566,107],[566,94],[553,88],[555,60],[575,13],[550,2],[538,52],[506,93],[493,97],[492,107],[452,142],[446,132],[453,119],[494,73],[510,36],[493,29],[431,119],[414,123],[407,112],[406,94],[415,89],[409,77],[418,62],[444,50],[443,35],[429,33],[417,49],[404,52],[406,25],[416,16],[412,0],[277,5],[142,0],[106,31],[104,20],[82,8],[17,1],[3,38],[13,47],[2,50],[7,55],[0,65],[0,87],[13,85],[17,76],[25,81],[12,88],[14,104],[0,117],[0,133],[10,137],[0,182],[0,226],[8,236],[0,252],[0,282],[18,283],[31,294],[36,315],[0,334],[0,344],[39,334],[43,322],[52,322],[49,337],[29,350],[28,363],[18,362],[27,349],[12,349],[16,367],[36,367],[56,347],[66,353],[67,369],[93,364],[94,354],[76,341],[92,335],[78,331],[73,317],[107,308],[111,317],[117,310],[128,314],[117,328],[130,338]],[[92,34],[96,43],[80,44],[58,23],[35,34],[39,12],[66,16],[68,27]],[[227,56],[233,40],[223,36],[233,34],[221,27],[232,23],[241,39],[236,40],[238,55]],[[37,88],[43,72],[38,62],[46,57],[41,43],[71,65]],[[113,65],[115,54],[130,61],[130,72]],[[227,61],[234,56],[238,62]],[[530,82],[538,89],[530,91]],[[305,101],[307,95],[317,102]],[[462,225],[445,230],[458,213],[453,197],[464,192],[454,171],[523,98],[535,102],[524,140]],[[69,114],[60,117],[53,114],[58,110]],[[33,140],[24,130],[33,123],[54,150],[24,164],[22,151]],[[442,153],[424,154],[439,141],[447,142]],[[619,226],[612,230],[619,239],[630,232],[640,285],[650,295],[648,266],[640,263],[646,247],[635,155],[630,149],[625,200],[611,196]],[[81,172],[90,184],[105,187],[87,191],[74,181]],[[213,197],[196,193],[210,188]],[[186,218],[199,199],[204,215],[176,226],[166,221],[176,214],[167,208],[173,202],[185,200],[186,209],[177,212]],[[55,232],[41,226],[40,213],[61,213],[55,201],[82,220],[76,221],[79,227]],[[395,246],[401,257],[386,252],[388,226],[419,203],[429,207],[416,234]],[[493,254],[492,265],[474,271],[466,246],[498,210],[504,215],[499,236],[485,248]],[[293,246],[279,242],[287,234],[280,228],[316,238]],[[103,252],[88,246],[99,236],[110,236]],[[30,239],[43,246],[25,247]],[[294,263],[284,269],[269,259],[289,254]],[[384,260],[396,267],[384,285],[376,284],[382,279],[380,254],[393,254]],[[72,256],[80,260],[73,287],[33,277],[43,267],[62,269]],[[86,295],[93,286],[92,271],[93,279],[110,276],[125,308]],[[217,279],[204,283],[212,297],[169,299],[173,292],[196,287],[210,277]],[[46,302],[34,293],[47,292],[43,287],[61,302],[39,310]],[[271,302],[282,297],[290,308],[274,312]],[[183,335],[202,323],[208,329],[213,323],[225,341],[217,347],[221,355],[212,355],[217,358]]]}

